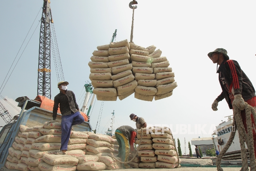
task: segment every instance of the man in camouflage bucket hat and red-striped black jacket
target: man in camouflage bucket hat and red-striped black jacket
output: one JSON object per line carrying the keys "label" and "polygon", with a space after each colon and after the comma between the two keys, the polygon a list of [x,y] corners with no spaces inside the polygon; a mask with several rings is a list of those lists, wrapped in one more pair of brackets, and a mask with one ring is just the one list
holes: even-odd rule
{"label": "man in camouflage bucket hat and red-striped black jacket", "polygon": [[[221,94],[214,100],[212,109],[217,111],[218,102],[225,98],[229,105],[229,109],[233,109],[232,105],[235,105],[239,110],[241,110],[242,122],[247,132],[246,113],[244,110],[245,101],[256,109],[256,95],[251,81],[240,68],[237,61],[229,60],[227,50],[217,48],[213,52],[208,53],[208,57],[213,61],[213,63],[217,63],[217,67],[220,65],[219,68],[217,68],[217,73],[219,74],[219,82],[222,89]],[[252,127],[255,127],[252,114],[251,118]],[[256,156],[256,133],[255,129],[252,130],[254,154]]]}

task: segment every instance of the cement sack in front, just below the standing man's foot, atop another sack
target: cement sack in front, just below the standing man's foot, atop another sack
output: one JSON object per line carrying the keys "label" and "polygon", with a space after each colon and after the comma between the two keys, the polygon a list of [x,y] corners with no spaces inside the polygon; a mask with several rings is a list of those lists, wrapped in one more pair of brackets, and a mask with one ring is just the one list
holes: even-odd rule
{"label": "cement sack in front, just below the standing man's foot, atop another sack", "polygon": [[68,155],[54,155],[54,154],[44,154],[42,160],[49,165],[73,165],[78,164],[78,159],[76,157]]}

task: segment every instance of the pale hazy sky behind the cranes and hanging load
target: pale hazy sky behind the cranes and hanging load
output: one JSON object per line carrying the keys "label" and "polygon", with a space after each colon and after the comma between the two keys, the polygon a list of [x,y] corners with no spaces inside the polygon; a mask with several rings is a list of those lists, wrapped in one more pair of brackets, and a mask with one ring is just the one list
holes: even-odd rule
{"label": "pale hazy sky behind the cranes and hanging load", "polygon": [[[64,77],[68,89],[76,94],[82,107],[83,85],[89,80],[88,62],[97,46],[110,42],[117,29],[116,41],[130,41],[132,9],[130,1],[66,1],[52,0],[51,9],[56,30]],[[34,25],[25,40],[17,59],[35,30],[41,15],[42,0],[2,1],[0,11],[0,58],[2,82],[19,51],[36,15]],[[213,111],[211,105],[221,93],[216,64],[207,54],[216,48],[225,48],[230,59],[239,62],[242,70],[255,85],[255,1],[151,1],[138,0],[134,14],[134,39],[139,46],[155,45],[170,62],[178,87],[173,95],[158,101],[141,101],[134,95],[120,101],[95,101],[91,125],[99,133],[110,128],[111,112],[115,110],[115,129],[122,125],[135,128],[129,115],[143,117],[147,124],[173,125],[174,138],[187,142],[196,137],[211,137],[214,125],[232,115],[225,100]],[[1,95],[15,106],[17,97],[34,99],[37,94],[39,26],[22,54]],[[16,63],[15,60],[14,64]],[[59,93],[52,60],[52,99]],[[12,69],[11,69],[12,70]],[[83,90],[83,91],[82,91]],[[80,95],[82,91],[82,94]],[[81,98],[80,98],[81,97]],[[2,99],[0,99],[3,102]],[[12,115],[15,110],[3,104]],[[98,119],[101,116],[101,121]],[[109,122],[108,122],[109,121]],[[108,123],[108,124],[107,124]],[[177,127],[176,127],[176,124]],[[204,127],[194,132],[194,127]],[[206,124],[204,126],[204,124]],[[0,125],[5,122],[0,118]],[[191,127],[188,133],[188,128]],[[177,130],[177,128],[179,130]],[[186,132],[187,130],[187,132]],[[198,133],[199,132],[199,133]],[[194,152],[195,147],[192,146]]]}

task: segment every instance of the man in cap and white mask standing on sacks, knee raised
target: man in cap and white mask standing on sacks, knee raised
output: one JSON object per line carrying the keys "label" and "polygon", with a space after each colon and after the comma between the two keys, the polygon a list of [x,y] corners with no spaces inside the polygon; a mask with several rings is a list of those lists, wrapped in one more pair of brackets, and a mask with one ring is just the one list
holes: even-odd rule
{"label": "man in cap and white mask standing on sacks, knee raised", "polygon": [[60,93],[54,97],[54,105],[52,111],[52,121],[47,124],[55,122],[57,117],[57,110],[60,106],[61,117],[61,147],[60,153],[65,154],[68,150],[68,141],[72,125],[78,125],[85,121],[85,118],[81,115],[80,109],[76,103],[75,94],[67,90],[68,82],[62,81],[58,83]]}

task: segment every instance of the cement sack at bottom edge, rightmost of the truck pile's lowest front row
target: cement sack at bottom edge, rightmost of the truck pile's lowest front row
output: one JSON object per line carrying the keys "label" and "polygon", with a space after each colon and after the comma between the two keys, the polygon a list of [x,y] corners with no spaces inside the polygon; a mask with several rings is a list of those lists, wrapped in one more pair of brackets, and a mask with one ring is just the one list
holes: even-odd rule
{"label": "cement sack at bottom edge, rightmost of the truck pile's lowest front row", "polygon": [[[107,166],[102,162],[88,161],[76,166],[76,170],[79,171],[96,171],[96,170],[105,170]],[[42,170],[44,171],[44,170]]]}

